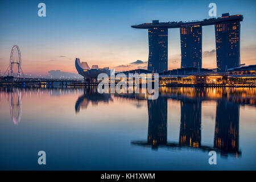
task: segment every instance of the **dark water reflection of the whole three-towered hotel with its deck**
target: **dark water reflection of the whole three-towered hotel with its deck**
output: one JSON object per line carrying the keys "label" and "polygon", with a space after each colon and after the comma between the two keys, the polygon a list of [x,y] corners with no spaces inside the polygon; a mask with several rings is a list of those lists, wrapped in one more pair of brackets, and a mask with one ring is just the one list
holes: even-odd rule
{"label": "dark water reflection of the whole three-towered hotel with its deck", "polygon": [[167,142],[167,98],[148,100],[148,137],[147,142],[134,141],[132,144],[162,147],[192,147],[203,151],[219,151],[221,155],[241,154],[239,140],[239,104],[226,100],[217,101],[216,129],[214,146],[201,145],[201,100],[181,98],[181,119],[179,143]]}

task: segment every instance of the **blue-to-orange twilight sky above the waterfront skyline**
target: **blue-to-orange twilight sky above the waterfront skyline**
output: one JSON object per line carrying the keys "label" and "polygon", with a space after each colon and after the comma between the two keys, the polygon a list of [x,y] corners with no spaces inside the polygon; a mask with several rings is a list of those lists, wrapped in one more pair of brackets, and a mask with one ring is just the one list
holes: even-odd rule
{"label": "blue-to-orange twilight sky above the waterfront skyline", "polygon": [[[46,4],[46,17],[38,4]],[[256,1],[3,1],[0,0],[0,69],[9,66],[11,47],[17,44],[25,74],[49,71],[77,73],[75,58],[90,66],[117,71],[146,68],[147,30],[133,24],[203,20],[209,3],[222,13],[242,14],[241,63],[256,64]],[[18,57],[18,56],[17,56]],[[139,61],[137,61],[139,60]],[[214,26],[203,27],[203,68],[216,68]],[[139,64],[138,64],[139,63]],[[180,68],[179,28],[168,30],[168,69]]]}

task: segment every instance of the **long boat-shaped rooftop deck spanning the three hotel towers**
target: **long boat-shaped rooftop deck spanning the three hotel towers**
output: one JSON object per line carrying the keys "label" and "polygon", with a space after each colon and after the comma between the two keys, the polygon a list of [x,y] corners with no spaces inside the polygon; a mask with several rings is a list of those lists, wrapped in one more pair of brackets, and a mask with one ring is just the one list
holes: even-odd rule
{"label": "long boat-shaped rooftop deck spanning the three hotel towers", "polygon": [[180,28],[183,26],[194,26],[194,25],[201,25],[201,26],[208,26],[213,25],[220,22],[225,22],[229,20],[243,20],[242,15],[226,15],[222,14],[219,18],[210,18],[210,19],[204,19],[202,21],[195,21],[195,22],[158,22],[153,21],[153,23],[143,23],[138,25],[133,25],[131,27],[133,28],[141,28],[141,29],[148,29],[148,28],[154,28],[154,27],[162,27],[162,28]]}

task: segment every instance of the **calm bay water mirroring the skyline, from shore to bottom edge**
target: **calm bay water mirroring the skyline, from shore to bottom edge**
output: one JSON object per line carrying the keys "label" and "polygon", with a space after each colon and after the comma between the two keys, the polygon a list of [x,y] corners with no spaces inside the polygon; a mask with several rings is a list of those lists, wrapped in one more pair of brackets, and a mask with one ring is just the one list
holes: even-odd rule
{"label": "calm bay water mirroring the skyline, from shore to bottom edge", "polygon": [[255,88],[163,87],[154,101],[96,88],[0,90],[0,169],[256,169]]}

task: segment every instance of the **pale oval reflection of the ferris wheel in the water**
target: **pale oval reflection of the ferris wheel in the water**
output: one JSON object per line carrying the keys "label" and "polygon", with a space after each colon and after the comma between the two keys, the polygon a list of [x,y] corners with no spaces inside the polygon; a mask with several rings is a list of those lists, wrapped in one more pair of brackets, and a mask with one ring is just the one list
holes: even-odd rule
{"label": "pale oval reflection of the ferris wheel in the water", "polygon": [[[16,92],[15,92],[15,90],[16,90]],[[17,97],[16,101],[14,101],[15,96]],[[18,111],[18,113],[15,110]],[[21,118],[21,114],[22,114],[22,100],[21,100],[21,93],[20,93],[19,89],[14,89],[11,92],[10,114],[11,114],[11,119],[14,122],[14,125],[18,125],[20,118]]]}

